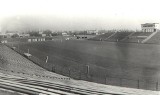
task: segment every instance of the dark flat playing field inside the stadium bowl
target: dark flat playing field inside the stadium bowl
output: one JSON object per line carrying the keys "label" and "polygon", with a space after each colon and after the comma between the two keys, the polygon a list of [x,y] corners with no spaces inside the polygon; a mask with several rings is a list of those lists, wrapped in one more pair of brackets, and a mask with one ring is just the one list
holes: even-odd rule
{"label": "dark flat playing field inside the stadium bowl", "polygon": [[14,46],[76,79],[155,90],[160,78],[159,45],[56,40]]}

